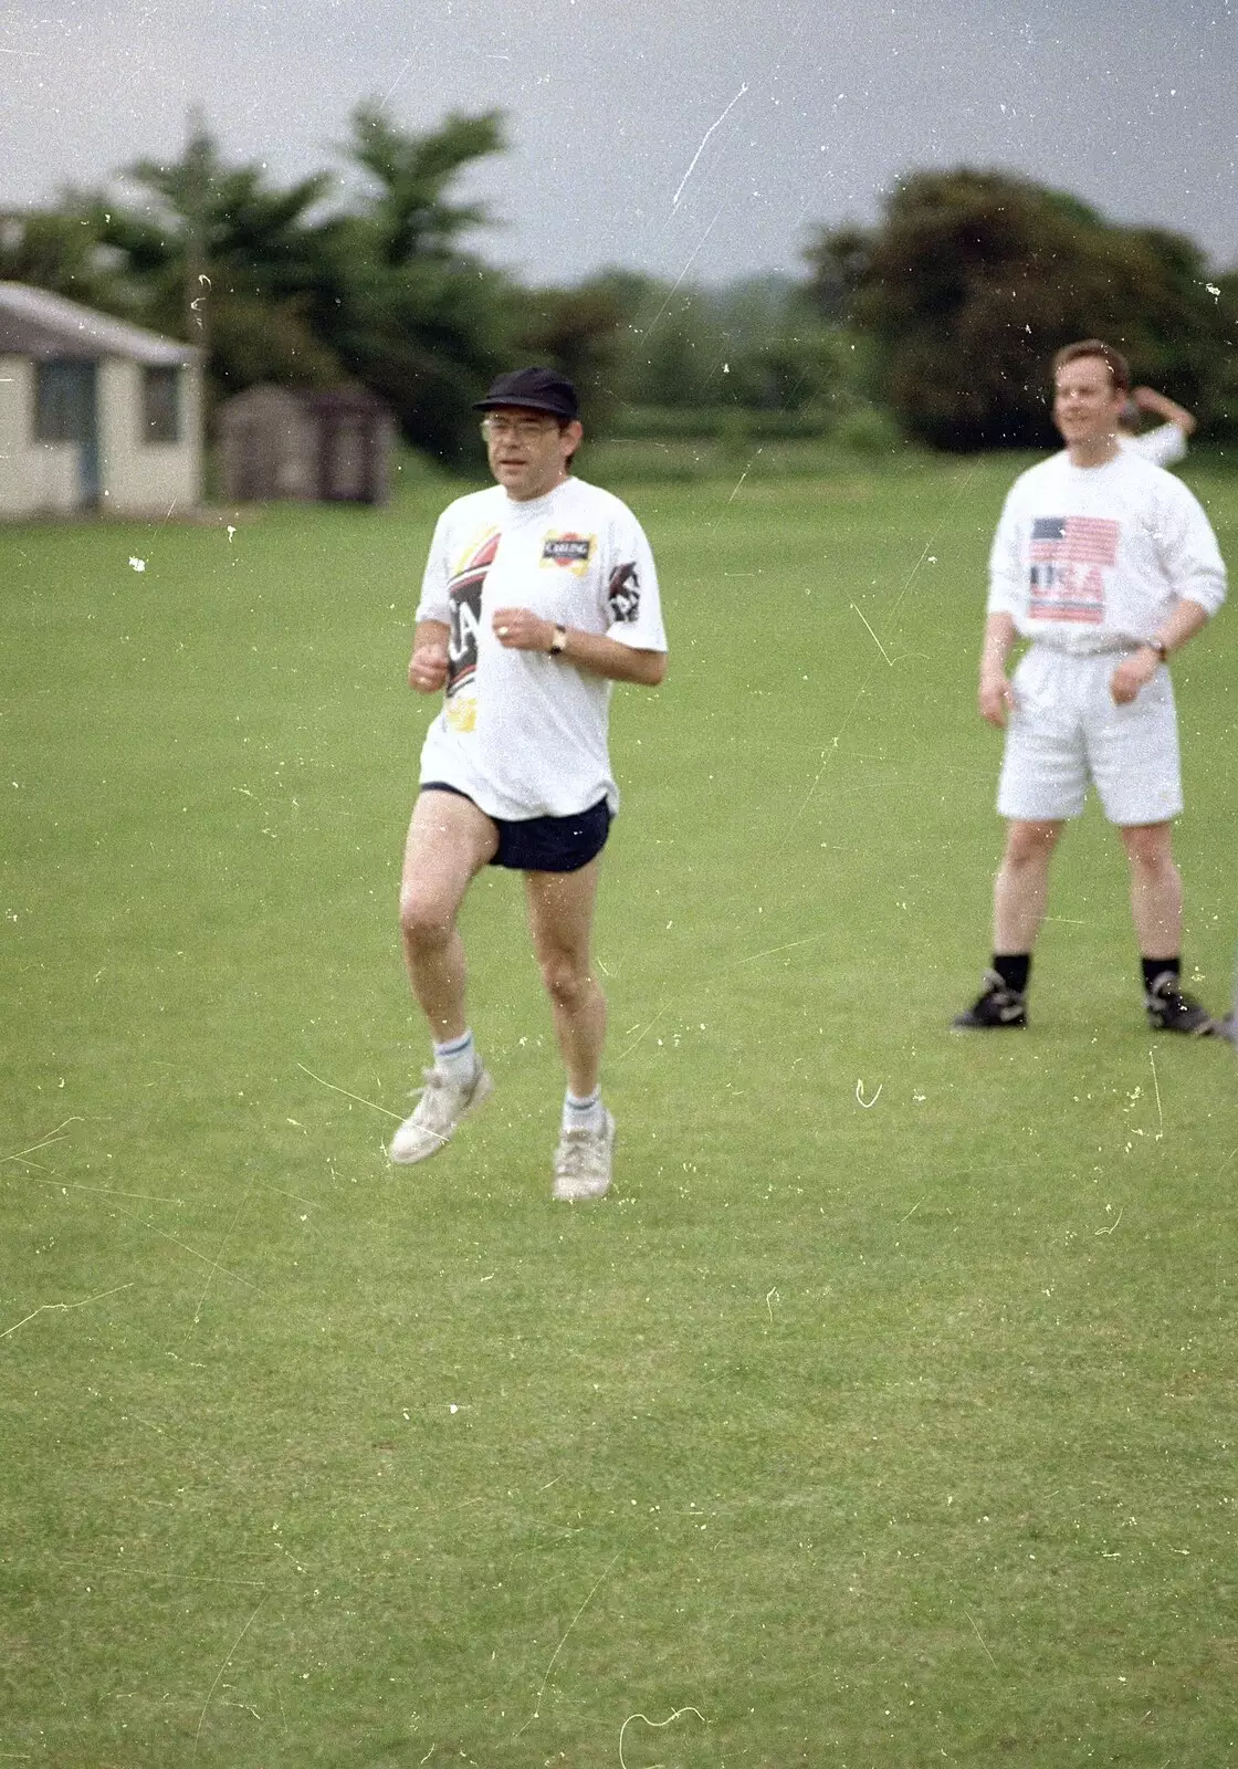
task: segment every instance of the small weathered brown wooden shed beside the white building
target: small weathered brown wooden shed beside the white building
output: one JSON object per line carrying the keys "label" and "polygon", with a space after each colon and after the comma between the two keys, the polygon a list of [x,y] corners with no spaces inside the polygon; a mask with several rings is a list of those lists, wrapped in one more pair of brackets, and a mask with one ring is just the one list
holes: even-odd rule
{"label": "small weathered brown wooden shed beside the white building", "polygon": [[249,387],[219,407],[216,430],[226,502],[387,501],[394,423],[364,387]]}

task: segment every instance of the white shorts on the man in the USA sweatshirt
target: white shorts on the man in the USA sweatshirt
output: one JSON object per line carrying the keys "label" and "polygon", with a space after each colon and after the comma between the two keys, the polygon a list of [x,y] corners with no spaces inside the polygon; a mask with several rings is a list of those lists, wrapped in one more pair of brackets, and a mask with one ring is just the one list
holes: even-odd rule
{"label": "white shorts on the man in the USA sweatshirt", "polygon": [[1120,828],[1178,816],[1181,764],[1169,670],[1158,669],[1128,706],[1114,706],[1109,681],[1125,655],[1028,651],[1013,674],[1017,706],[997,782],[1003,817],[1077,817],[1089,780]]}

